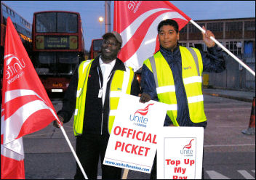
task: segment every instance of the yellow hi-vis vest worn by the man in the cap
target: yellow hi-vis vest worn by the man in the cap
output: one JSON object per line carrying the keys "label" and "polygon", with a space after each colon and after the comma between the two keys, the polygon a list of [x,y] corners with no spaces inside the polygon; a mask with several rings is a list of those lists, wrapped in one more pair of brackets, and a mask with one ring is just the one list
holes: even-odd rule
{"label": "yellow hi-vis vest worn by the man in the cap", "polygon": [[[83,133],[84,126],[84,107],[87,95],[87,83],[89,70],[91,69],[93,60],[81,62],[79,65],[79,83],[77,85],[76,94],[76,110],[73,122],[73,131],[75,136]],[[111,133],[113,121],[115,120],[116,110],[122,93],[130,94],[134,72],[132,67],[125,67],[124,70],[116,70],[113,74],[110,89],[110,112],[108,116],[108,133]],[[101,112],[99,112],[101,113]]]}

